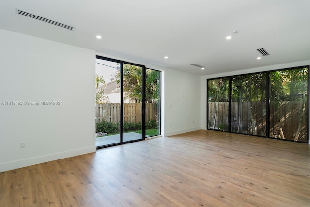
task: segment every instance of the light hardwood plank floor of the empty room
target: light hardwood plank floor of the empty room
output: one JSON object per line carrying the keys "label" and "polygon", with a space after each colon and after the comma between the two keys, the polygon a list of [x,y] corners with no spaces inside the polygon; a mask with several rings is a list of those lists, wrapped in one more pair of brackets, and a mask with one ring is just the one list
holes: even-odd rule
{"label": "light hardwood plank floor of the empty room", "polygon": [[310,207],[310,146],[199,130],[0,173],[0,207]]}

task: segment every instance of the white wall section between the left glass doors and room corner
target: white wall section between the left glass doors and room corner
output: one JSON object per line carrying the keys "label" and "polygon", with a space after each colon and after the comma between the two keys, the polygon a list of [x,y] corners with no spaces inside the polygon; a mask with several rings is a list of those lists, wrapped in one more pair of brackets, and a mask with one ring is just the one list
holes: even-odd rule
{"label": "white wall section between the left glass doors and room corner", "polygon": [[165,136],[201,129],[201,77],[165,70]]}

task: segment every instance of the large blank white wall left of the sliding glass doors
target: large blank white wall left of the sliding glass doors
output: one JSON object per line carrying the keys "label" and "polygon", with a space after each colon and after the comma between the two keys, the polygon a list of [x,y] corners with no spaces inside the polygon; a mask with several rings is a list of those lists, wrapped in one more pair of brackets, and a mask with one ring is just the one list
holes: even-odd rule
{"label": "large blank white wall left of the sliding glass doors", "polygon": [[0,30],[0,172],[96,150],[94,76],[92,50]]}

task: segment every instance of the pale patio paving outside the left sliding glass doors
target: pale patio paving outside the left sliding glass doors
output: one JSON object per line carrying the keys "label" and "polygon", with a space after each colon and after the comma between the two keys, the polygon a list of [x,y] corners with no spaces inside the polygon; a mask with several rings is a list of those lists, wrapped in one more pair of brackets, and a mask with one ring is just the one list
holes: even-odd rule
{"label": "pale patio paving outside the left sliding glass doors", "polygon": [[[148,137],[148,135],[146,135]],[[129,132],[123,134],[123,142],[130,141],[130,140],[140,140],[142,135],[136,132]],[[107,144],[119,143],[120,142],[120,135],[107,135],[103,137],[96,137],[96,147],[104,146]]]}

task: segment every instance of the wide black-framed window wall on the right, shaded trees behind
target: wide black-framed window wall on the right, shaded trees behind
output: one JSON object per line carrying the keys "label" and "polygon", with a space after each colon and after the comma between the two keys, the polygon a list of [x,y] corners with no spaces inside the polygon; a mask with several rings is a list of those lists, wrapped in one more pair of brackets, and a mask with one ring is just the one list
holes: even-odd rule
{"label": "wide black-framed window wall on the right, shaded trees behind", "polygon": [[308,143],[309,66],[208,79],[207,87],[208,129]]}

